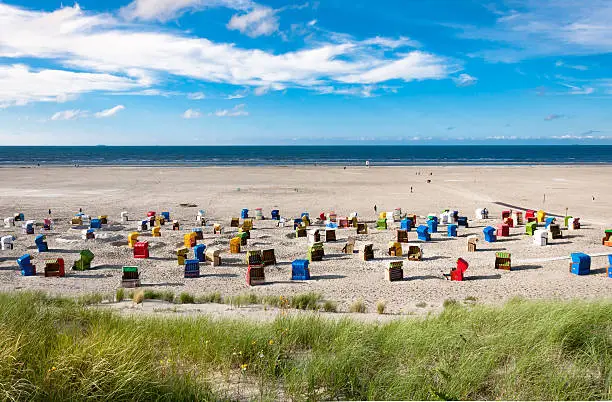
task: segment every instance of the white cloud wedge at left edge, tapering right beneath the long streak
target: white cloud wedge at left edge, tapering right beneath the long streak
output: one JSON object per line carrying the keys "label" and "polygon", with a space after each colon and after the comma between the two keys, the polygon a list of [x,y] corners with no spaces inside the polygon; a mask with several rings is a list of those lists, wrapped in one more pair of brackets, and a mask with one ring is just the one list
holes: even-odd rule
{"label": "white cloud wedge at left edge, tapering right beneath the long streak", "polygon": [[125,91],[138,87],[140,84],[137,81],[117,75],[63,70],[32,71],[19,64],[0,65],[0,108],[30,102],[63,103],[86,92]]}

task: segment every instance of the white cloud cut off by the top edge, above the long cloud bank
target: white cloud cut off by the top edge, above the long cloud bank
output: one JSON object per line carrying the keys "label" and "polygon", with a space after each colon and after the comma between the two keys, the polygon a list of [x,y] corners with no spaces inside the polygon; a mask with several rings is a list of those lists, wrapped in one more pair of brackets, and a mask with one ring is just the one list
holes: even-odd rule
{"label": "white cloud cut off by the top edge, above the long cloud bank", "polygon": [[187,11],[208,7],[227,7],[243,10],[253,6],[250,0],[135,0],[121,9],[121,15],[129,20],[168,21]]}

